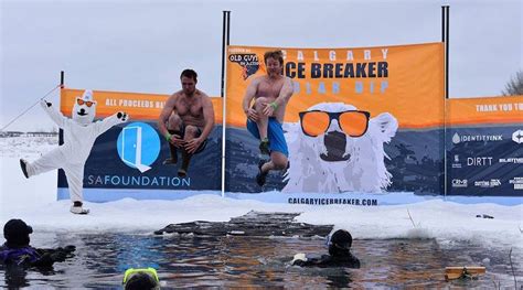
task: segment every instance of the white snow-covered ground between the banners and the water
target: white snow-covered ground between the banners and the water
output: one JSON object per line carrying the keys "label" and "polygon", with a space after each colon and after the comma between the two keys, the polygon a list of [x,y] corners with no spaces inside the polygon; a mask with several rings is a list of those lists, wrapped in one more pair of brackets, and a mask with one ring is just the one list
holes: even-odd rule
{"label": "white snow-covered ground between the banners and the water", "polygon": [[[202,194],[179,201],[87,202],[92,214],[73,215],[68,212],[70,201],[56,201],[56,171],[26,180],[20,170],[20,158],[36,159],[57,146],[53,139],[0,138],[0,225],[10,218],[22,218],[35,232],[152,232],[171,223],[228,221],[252,210],[301,212],[300,222],[334,224],[335,228],[349,229],[357,239],[434,237],[440,243],[470,240],[523,253],[522,204],[457,204],[434,200],[375,207],[313,206]],[[494,218],[477,218],[477,214]]]}

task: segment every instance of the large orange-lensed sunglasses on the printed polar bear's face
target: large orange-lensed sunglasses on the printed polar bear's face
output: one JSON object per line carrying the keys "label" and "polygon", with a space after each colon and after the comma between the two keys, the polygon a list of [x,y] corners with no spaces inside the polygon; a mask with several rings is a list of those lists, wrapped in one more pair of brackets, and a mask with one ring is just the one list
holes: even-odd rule
{"label": "large orange-lensed sunglasses on the printed polar bear's face", "polygon": [[371,114],[364,110],[300,111],[301,130],[309,137],[318,137],[329,129],[332,120],[337,120],[344,133],[350,137],[362,137],[369,128]]}

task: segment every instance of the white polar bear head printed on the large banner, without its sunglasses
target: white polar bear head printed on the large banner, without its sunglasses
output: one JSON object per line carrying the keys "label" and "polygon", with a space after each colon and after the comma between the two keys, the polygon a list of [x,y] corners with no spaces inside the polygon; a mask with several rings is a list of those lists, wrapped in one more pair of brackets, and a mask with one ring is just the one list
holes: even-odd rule
{"label": "white polar bear head printed on the large banner, without its sunglasses", "polygon": [[[321,103],[308,109],[327,112],[356,110],[343,103]],[[366,192],[383,193],[392,184],[392,174],[385,168],[383,143],[396,135],[397,120],[388,112],[369,120],[366,132],[350,137],[339,121],[317,137],[307,136],[300,122],[286,123],[290,168],[282,192]]]}

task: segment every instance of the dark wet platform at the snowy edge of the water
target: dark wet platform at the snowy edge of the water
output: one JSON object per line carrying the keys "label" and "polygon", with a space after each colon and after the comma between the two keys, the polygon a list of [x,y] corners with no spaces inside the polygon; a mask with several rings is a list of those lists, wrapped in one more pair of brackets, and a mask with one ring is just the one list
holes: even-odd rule
{"label": "dark wet platform at the snowy edge of the water", "polygon": [[233,217],[230,222],[196,221],[182,224],[170,224],[156,230],[156,235],[194,234],[200,236],[282,236],[282,237],[325,237],[333,225],[311,225],[295,222],[300,213],[263,213],[250,211],[245,215]]}

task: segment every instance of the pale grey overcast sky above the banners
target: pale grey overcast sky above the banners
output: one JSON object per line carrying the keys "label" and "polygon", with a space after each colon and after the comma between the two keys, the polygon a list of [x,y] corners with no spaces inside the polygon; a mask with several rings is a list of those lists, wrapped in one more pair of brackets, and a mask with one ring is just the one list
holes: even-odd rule
{"label": "pale grey overcast sky above the banners", "polygon": [[[199,87],[220,95],[223,10],[231,44],[359,47],[438,42],[450,4],[451,97],[500,95],[523,67],[523,0],[0,2],[0,128],[60,71],[71,88],[171,94],[192,67]],[[51,128],[36,106],[7,130]]]}

